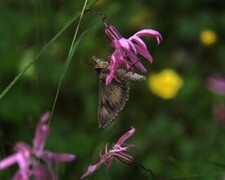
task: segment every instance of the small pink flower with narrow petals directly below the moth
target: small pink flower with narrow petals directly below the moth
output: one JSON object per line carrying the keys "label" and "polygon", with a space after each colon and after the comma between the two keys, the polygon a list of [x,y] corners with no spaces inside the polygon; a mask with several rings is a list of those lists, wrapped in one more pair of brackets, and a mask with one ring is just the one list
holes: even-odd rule
{"label": "small pink flower with narrow petals directly below the moth", "polygon": [[121,136],[111,150],[108,150],[107,144],[105,146],[105,152],[102,153],[102,151],[100,151],[100,161],[94,165],[90,165],[81,179],[95,172],[102,164],[105,164],[106,168],[109,169],[112,165],[113,160],[124,162],[126,164],[134,162],[134,157],[127,152],[127,149],[135,145],[124,143],[129,137],[134,134],[134,132],[135,128],[131,127],[131,130]]}

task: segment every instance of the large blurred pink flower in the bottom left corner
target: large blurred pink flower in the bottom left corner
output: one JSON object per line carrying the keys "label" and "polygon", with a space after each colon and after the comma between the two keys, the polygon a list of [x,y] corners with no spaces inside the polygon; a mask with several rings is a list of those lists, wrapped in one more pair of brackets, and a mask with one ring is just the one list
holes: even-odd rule
{"label": "large blurred pink flower in the bottom left corner", "polygon": [[[34,177],[36,180],[57,180],[56,168],[59,163],[75,159],[73,154],[57,154],[44,150],[46,139],[50,133],[50,126],[47,124],[48,118],[48,112],[40,118],[32,147],[24,142],[17,142],[14,147],[15,154],[0,161],[0,170],[18,164],[19,170],[15,173],[13,180],[29,180],[30,177]],[[40,159],[47,164],[48,169]],[[55,162],[56,168],[53,168],[52,162]]]}

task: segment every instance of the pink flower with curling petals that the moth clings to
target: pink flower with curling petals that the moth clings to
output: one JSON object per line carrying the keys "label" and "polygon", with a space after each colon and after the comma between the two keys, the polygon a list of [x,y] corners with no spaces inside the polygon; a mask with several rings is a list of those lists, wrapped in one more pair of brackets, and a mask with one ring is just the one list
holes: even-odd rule
{"label": "pink flower with curling petals that the moth clings to", "polygon": [[162,41],[161,34],[153,29],[140,30],[130,38],[125,39],[114,26],[106,24],[105,33],[111,39],[111,46],[115,49],[109,58],[109,74],[106,77],[106,85],[109,85],[113,79],[117,80],[116,70],[120,66],[124,66],[128,70],[133,70],[133,66],[136,66],[140,71],[146,72],[145,67],[138,58],[138,54],[146,58],[150,63],[152,63],[153,58],[141,39],[142,36],[155,37],[157,44]]}

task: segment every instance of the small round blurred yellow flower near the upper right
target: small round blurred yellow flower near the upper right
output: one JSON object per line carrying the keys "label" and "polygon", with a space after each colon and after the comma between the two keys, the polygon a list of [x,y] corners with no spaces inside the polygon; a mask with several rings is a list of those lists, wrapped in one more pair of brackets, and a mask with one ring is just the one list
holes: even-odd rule
{"label": "small round blurred yellow flower near the upper right", "polygon": [[212,30],[203,30],[200,33],[200,40],[204,45],[212,45],[217,40],[217,34]]}

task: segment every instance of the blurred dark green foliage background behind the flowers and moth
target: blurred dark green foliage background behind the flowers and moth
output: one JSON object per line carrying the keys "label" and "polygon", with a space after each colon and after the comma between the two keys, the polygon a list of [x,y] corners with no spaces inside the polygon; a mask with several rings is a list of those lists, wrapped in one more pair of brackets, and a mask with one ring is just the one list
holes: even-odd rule
{"label": "blurred dark green foliage background behind the flowers and moth", "polygon": [[[81,0],[0,1],[0,92],[82,5]],[[90,57],[107,57],[113,49],[101,18],[87,13],[80,33],[92,28],[79,44],[63,81],[46,144],[53,152],[77,155],[74,162],[61,164],[59,179],[79,179],[89,164],[99,160],[99,150],[116,142],[130,126],[136,133],[128,143],[140,146],[131,152],[158,177],[225,174],[225,129],[212,111],[225,97],[206,87],[209,76],[225,74],[225,1],[99,0],[92,9],[106,13],[107,23],[124,37],[143,28],[161,32],[159,46],[153,38],[144,38],[154,57],[153,64],[142,61],[148,69],[146,76],[170,68],[180,75],[183,86],[174,98],[163,99],[151,92],[148,81],[130,83],[124,110],[108,128],[98,129],[98,77]],[[63,33],[0,101],[0,159],[12,153],[16,141],[32,143],[40,115],[51,110],[76,25]],[[200,38],[206,30],[216,37],[211,44]],[[0,179],[12,177],[14,168],[1,171]],[[102,167],[89,177],[116,178],[151,176],[138,167],[115,162],[108,173]]]}

